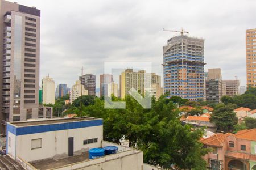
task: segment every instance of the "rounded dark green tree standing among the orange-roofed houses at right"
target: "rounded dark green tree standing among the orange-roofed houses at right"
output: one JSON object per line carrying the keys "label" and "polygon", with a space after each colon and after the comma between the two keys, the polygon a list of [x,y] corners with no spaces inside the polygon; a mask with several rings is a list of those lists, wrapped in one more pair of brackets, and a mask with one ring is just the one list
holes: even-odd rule
{"label": "rounded dark green tree standing among the orange-roofed houses at right", "polygon": [[212,116],[210,116],[210,122],[217,126],[218,131],[232,132],[234,126],[236,126],[238,119],[236,113],[234,113],[234,104],[218,104],[214,108]]}

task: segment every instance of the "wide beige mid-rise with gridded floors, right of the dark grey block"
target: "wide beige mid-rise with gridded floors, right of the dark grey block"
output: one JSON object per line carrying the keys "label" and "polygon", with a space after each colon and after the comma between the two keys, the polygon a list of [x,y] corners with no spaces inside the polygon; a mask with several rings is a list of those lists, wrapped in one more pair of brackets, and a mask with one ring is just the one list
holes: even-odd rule
{"label": "wide beige mid-rise with gridded floors, right of the dark grey block", "polygon": [[223,80],[223,94],[231,97],[238,95],[239,85],[239,80]]}

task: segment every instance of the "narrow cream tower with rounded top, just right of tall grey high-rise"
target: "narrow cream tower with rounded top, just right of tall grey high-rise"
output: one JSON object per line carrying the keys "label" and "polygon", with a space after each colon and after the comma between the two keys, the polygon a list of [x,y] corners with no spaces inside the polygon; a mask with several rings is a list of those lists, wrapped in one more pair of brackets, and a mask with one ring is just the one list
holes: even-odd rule
{"label": "narrow cream tower with rounded top, just right of tall grey high-rise", "polygon": [[46,76],[42,79],[42,90],[43,90],[43,104],[54,104],[55,103],[55,82],[51,77]]}

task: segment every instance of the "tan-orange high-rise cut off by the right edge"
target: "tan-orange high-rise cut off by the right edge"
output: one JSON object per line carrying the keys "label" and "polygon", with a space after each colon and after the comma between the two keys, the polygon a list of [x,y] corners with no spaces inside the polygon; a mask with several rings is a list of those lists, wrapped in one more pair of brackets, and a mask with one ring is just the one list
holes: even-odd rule
{"label": "tan-orange high-rise cut off by the right edge", "polygon": [[246,30],[247,86],[256,87],[256,28]]}

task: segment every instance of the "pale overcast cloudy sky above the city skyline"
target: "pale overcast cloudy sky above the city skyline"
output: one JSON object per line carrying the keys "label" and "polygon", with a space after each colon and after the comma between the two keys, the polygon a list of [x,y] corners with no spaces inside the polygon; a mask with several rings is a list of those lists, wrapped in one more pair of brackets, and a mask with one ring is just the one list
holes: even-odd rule
{"label": "pale overcast cloudy sky above the city skyline", "polygon": [[[246,85],[245,30],[256,28],[256,2],[249,1],[50,1],[15,0],[41,10],[40,79],[49,73],[68,87],[84,73],[100,74],[105,61],[151,61],[163,76],[163,45],[174,32],[205,39],[205,71]],[[12,1],[14,2],[14,1]]]}

